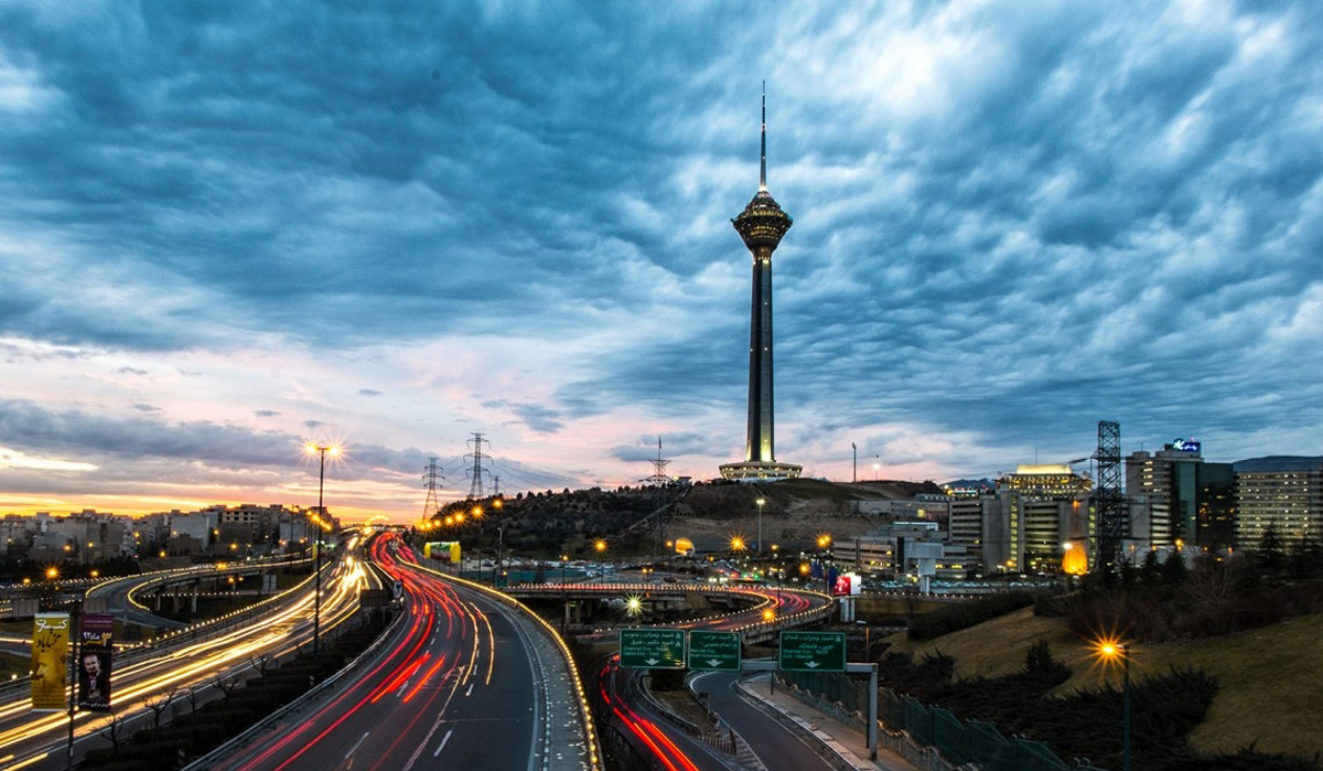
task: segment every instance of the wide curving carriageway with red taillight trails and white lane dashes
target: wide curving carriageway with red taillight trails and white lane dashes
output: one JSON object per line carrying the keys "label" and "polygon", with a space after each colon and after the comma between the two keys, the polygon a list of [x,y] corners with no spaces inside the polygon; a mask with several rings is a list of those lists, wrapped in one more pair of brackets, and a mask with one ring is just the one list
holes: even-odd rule
{"label": "wide curving carriageway with red taillight trails and white lane dashes", "polygon": [[[380,654],[327,695],[224,759],[224,771],[597,768],[578,680],[560,641],[493,592],[415,564],[394,534],[372,559],[402,586],[407,617]],[[193,768],[193,767],[191,767]]]}

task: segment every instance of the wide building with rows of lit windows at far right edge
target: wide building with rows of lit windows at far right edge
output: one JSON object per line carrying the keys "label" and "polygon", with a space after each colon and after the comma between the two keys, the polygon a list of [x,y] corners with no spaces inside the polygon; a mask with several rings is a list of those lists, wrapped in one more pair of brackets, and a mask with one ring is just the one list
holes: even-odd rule
{"label": "wide building with rows of lit windows at far right edge", "polygon": [[1323,542],[1323,457],[1237,461],[1236,548],[1256,550],[1269,529],[1283,546]]}

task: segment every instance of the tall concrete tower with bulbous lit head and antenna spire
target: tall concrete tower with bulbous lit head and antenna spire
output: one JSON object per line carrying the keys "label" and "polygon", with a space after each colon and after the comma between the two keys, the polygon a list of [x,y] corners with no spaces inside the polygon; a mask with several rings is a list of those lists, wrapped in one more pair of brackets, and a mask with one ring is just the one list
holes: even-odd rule
{"label": "tall concrete tower with bulbous lit head and antenna spire", "polygon": [[753,306],[749,322],[749,429],[745,460],[722,464],[726,480],[789,480],[802,468],[777,462],[773,440],[771,399],[771,253],[794,220],[781,211],[767,192],[767,91],[762,94],[762,159],[758,167],[758,193],[745,211],[730,220],[753,254]]}

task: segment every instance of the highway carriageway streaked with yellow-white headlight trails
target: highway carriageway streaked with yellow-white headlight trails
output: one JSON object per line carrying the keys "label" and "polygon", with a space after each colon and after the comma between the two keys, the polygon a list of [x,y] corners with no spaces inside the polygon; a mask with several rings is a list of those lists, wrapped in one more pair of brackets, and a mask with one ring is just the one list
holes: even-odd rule
{"label": "highway carriageway streaked with yellow-white headlight trails", "polygon": [[[323,566],[321,633],[335,633],[359,609],[359,591],[370,576],[352,555]],[[179,631],[160,644],[116,653],[112,680],[114,718],[78,711],[73,718],[73,756],[107,747],[102,735],[114,719],[124,734],[149,714],[149,702],[179,699],[188,709],[214,695],[217,678],[234,678],[263,657],[291,654],[312,639],[312,582],[291,592],[270,613],[220,632]],[[189,693],[192,692],[192,694]],[[192,697],[192,698],[191,698]],[[0,706],[0,771],[54,771],[69,759],[69,714],[33,711],[26,699]]]}

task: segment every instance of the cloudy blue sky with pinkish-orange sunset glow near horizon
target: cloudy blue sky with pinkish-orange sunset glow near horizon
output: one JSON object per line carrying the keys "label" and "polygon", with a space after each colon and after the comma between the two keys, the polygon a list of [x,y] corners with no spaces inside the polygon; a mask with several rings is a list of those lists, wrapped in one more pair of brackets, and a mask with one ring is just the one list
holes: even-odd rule
{"label": "cloudy blue sky with pinkish-orange sunset glow near horizon", "polygon": [[1323,9],[0,4],[0,513],[1319,454]]}

